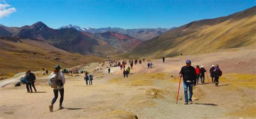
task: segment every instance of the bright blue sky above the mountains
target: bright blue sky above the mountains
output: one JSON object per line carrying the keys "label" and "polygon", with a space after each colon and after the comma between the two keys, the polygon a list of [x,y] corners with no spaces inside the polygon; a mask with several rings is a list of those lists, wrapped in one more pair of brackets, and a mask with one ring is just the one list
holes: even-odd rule
{"label": "bright blue sky above the mountains", "polygon": [[256,0],[0,0],[0,24],[43,22],[53,29],[82,27],[171,28],[194,20],[227,16],[256,5]]}

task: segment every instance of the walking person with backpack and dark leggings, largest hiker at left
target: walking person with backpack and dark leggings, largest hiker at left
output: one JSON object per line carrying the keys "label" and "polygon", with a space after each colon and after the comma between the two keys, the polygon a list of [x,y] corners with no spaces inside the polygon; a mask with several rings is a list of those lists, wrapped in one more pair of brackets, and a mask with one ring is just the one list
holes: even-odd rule
{"label": "walking person with backpack and dark leggings, largest hiker at left", "polygon": [[49,75],[49,85],[53,88],[54,97],[51,101],[51,105],[49,106],[49,110],[53,111],[53,104],[58,99],[58,92],[60,93],[59,100],[59,109],[63,109],[62,102],[64,99],[64,84],[65,84],[65,76],[62,72],[60,72],[60,66],[56,65],[53,69],[53,72]]}

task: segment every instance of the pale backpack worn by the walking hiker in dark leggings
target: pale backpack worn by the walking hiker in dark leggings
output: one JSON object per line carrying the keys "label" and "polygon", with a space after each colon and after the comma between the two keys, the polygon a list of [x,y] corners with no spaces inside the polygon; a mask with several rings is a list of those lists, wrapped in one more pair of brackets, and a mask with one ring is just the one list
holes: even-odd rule
{"label": "pale backpack worn by the walking hiker in dark leggings", "polygon": [[58,79],[58,74],[52,74],[49,76],[48,84],[51,88],[60,88],[63,86],[62,80]]}

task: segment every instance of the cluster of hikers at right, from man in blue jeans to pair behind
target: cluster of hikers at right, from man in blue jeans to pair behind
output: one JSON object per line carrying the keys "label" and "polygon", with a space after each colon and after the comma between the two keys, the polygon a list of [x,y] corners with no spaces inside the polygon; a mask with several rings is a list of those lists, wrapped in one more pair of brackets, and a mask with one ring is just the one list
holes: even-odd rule
{"label": "cluster of hikers at right, from man in blue jeans to pair behind", "polygon": [[[192,104],[192,95],[193,95],[193,86],[196,86],[199,80],[199,76],[201,78],[201,83],[204,84],[204,73],[206,72],[204,66],[197,65],[195,69],[191,66],[191,61],[186,61],[186,66],[183,66],[180,70],[179,76],[180,78],[183,77],[183,87],[184,87],[184,95],[185,95],[185,103],[184,104]],[[212,82],[215,82],[215,86],[218,86],[219,77],[222,75],[222,72],[219,68],[219,65],[216,64],[215,66],[212,65],[210,69]],[[214,78],[214,79],[213,79]],[[202,80],[203,79],[203,80]],[[187,90],[189,90],[189,96],[187,95]]]}

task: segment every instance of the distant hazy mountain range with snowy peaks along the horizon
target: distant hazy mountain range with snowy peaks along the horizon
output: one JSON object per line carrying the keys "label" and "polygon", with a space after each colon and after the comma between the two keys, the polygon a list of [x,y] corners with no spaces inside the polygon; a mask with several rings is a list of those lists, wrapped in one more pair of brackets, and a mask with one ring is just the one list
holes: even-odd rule
{"label": "distant hazy mountain range with snowy peaks along the horizon", "polygon": [[93,27],[80,27],[76,25],[66,25],[62,26],[59,29],[66,29],[72,27],[73,29],[76,29],[78,31],[86,31],[89,33],[104,33],[107,31],[113,31],[121,34],[126,34],[128,36],[131,36],[133,38],[137,38],[140,40],[149,40],[151,38],[154,38],[158,36],[159,34],[162,34],[166,31],[176,29],[177,27],[172,27],[171,29],[164,29],[164,28],[156,28],[156,29],[122,29],[119,27],[104,27],[104,28],[93,28]]}

